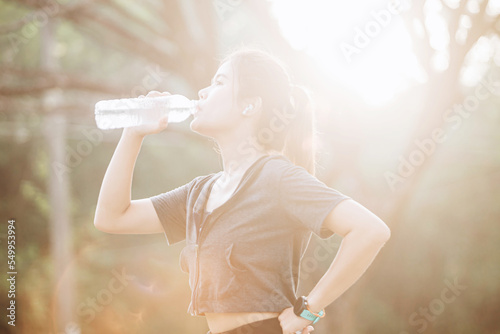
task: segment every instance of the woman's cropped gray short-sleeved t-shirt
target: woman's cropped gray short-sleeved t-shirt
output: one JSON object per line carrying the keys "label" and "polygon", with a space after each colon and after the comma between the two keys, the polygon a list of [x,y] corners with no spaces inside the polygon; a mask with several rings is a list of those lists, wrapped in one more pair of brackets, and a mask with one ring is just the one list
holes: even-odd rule
{"label": "woman's cropped gray short-sleeved t-shirt", "polygon": [[282,155],[264,156],[245,172],[233,195],[205,211],[222,172],[153,196],[168,244],[186,240],[181,268],[189,273],[192,315],[281,312],[293,305],[300,260],[311,232],[350,197],[327,187]]}

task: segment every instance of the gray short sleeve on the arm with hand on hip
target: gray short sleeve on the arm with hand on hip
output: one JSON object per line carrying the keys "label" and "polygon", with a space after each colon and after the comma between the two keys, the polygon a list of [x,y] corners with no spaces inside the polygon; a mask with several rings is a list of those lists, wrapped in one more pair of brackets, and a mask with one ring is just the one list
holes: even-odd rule
{"label": "gray short sleeve on the arm with hand on hip", "polygon": [[320,238],[333,232],[323,228],[328,214],[343,200],[350,199],[295,165],[284,168],[280,180],[280,199],[286,213]]}

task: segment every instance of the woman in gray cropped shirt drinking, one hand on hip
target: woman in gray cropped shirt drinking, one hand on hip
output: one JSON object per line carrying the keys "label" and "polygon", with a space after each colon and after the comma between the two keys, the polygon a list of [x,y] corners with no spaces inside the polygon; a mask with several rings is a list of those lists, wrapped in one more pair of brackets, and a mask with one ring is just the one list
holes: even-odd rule
{"label": "woman in gray cropped shirt drinking, one hand on hip", "polygon": [[[155,95],[162,94],[148,94]],[[199,97],[190,126],[216,141],[223,171],[131,201],[142,140],[168,120],[127,128],[106,171],[94,224],[109,233],[164,232],[169,244],[185,239],[189,312],[204,315],[211,333],[310,333],[324,308],[365,272],[390,231],[313,176],[308,95],[277,59],[237,51]],[[300,259],[312,232],[337,233],[343,241],[321,280],[297,298]]]}

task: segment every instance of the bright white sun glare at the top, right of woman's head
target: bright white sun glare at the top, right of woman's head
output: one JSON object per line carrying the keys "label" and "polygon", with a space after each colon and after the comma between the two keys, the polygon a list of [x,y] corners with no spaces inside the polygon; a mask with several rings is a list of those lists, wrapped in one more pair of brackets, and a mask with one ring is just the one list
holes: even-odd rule
{"label": "bright white sun glare at the top, right of woman's head", "polygon": [[[363,2],[361,2],[363,3]],[[399,13],[389,1],[275,0],[273,12],[292,47],[306,51],[333,81],[371,105],[422,81]]]}

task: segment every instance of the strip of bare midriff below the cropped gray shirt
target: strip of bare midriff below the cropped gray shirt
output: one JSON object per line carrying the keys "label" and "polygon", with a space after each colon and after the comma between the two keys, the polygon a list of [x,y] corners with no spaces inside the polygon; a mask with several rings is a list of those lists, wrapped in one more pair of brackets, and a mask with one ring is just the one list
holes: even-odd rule
{"label": "strip of bare midriff below the cropped gray shirt", "polygon": [[277,312],[250,313],[205,313],[208,328],[212,333],[222,333],[249,324],[251,322],[276,318]]}

